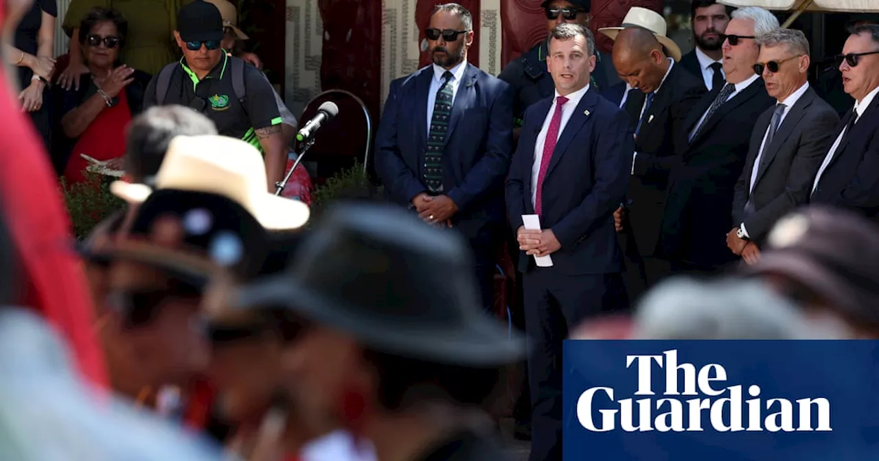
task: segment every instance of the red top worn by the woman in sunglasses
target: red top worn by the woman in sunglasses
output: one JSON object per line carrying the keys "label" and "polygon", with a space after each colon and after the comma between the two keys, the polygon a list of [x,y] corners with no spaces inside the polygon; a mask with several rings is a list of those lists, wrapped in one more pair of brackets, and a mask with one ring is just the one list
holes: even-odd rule
{"label": "red top worn by the woman in sunglasses", "polygon": [[107,107],[85,129],[70,152],[64,179],[67,184],[85,181],[84,170],[89,166],[82,155],[95,160],[110,160],[125,154],[125,133],[131,121],[131,110],[125,91],[119,93],[119,104]]}

